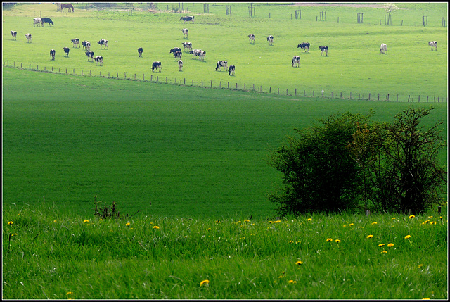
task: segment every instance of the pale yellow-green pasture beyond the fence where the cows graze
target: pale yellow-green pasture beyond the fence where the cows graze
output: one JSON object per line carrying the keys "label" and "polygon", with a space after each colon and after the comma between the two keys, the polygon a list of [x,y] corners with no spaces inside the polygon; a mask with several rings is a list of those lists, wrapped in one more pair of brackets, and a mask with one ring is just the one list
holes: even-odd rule
{"label": "pale yellow-green pasture beyond the fence where the cows graze", "polygon": [[[124,4],[123,4],[124,5]],[[183,3],[184,13],[195,15],[195,23],[179,20],[183,14],[171,12],[178,3],[158,3],[159,10],[148,11],[148,4],[120,6],[97,10],[86,4],[75,5],[75,13],[56,10],[54,4],[24,4],[3,11],[3,61],[24,68],[75,72],[111,77],[158,77],[162,82],[214,87],[251,87],[281,94],[321,94],[349,99],[390,99],[420,101],[447,95],[447,27],[442,27],[446,4],[399,4],[393,14],[393,25],[379,25],[384,20],[383,8],[349,8],[321,6],[288,6],[255,4],[255,18],[248,17],[248,4],[209,4],[203,13],[201,3]],[[231,5],[231,15],[225,6]],[[169,6],[169,11],[167,11]],[[302,19],[290,18],[295,9]],[[319,11],[327,12],[326,21],[316,21]],[[270,13],[270,18],[269,18]],[[356,23],[356,13],[364,13],[364,23]],[[428,15],[429,25],[421,26]],[[33,27],[32,18],[52,18],[55,26]],[[339,18],[339,23],[338,19]],[[403,20],[403,25],[399,21]],[[181,28],[189,29],[184,39]],[[11,39],[10,30],[18,32]],[[32,43],[25,34],[32,33]],[[256,35],[254,45],[248,34]],[[274,35],[274,45],[266,37]],[[73,38],[89,40],[94,56],[103,56],[103,66],[88,62],[82,49],[72,48]],[[108,39],[109,49],[100,49],[99,39]],[[430,51],[428,41],[438,41],[438,51]],[[192,59],[184,52],[184,71],[169,49],[192,42],[194,49],[207,51],[206,61]],[[310,42],[309,54],[297,49],[300,42]],[[387,44],[388,54],[380,54],[380,44]],[[329,47],[321,56],[318,46]],[[70,47],[69,58],[63,47]],[[136,49],[143,47],[143,58]],[[49,51],[56,49],[56,60]],[[290,64],[300,55],[301,67]],[[219,60],[236,65],[236,76],[214,71]],[[162,62],[162,72],[152,73],[153,61]]]}

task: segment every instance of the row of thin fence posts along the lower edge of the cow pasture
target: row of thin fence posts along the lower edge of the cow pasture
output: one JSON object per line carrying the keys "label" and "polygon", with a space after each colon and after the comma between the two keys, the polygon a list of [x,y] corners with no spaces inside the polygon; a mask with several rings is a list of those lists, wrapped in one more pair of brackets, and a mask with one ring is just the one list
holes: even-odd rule
{"label": "row of thin fence posts along the lower edge of the cow pasture", "polygon": [[[13,65],[10,66],[9,65],[9,60],[7,60],[6,62],[3,62],[3,65],[6,67],[10,67],[10,68],[19,68],[18,66],[16,67],[15,62],[13,62]],[[23,68],[23,63],[20,63],[20,68]],[[61,68],[58,68],[58,71],[56,71],[56,69],[53,69],[53,67],[51,68],[51,70],[47,70],[46,66],[44,66],[44,69],[39,70],[39,65],[36,65],[36,68],[32,68],[31,64],[28,65],[28,68],[25,65],[25,69],[29,69],[29,70],[36,70],[36,71],[41,71],[41,72],[46,72],[46,73],[60,73],[60,74],[70,74],[70,75],[77,75],[75,73],[75,68],[72,69],[72,73],[70,73],[70,70],[68,70],[68,68],[65,68],[65,70],[63,70],[63,72],[61,72]],[[84,72],[82,69],[80,69],[81,72],[79,75],[81,76],[88,76],[86,72]],[[176,82],[176,78],[172,83],[171,79],[168,79],[167,77],[165,77],[165,80],[161,81],[159,78],[159,75],[156,75],[156,78],[153,78],[154,74],[150,75],[150,80],[146,80],[146,75],[143,74],[142,75],[142,80],[136,77],[136,73],[134,73],[134,77],[127,77],[127,72],[124,72],[124,77],[120,78],[119,77],[119,73],[115,73],[115,76],[111,76],[110,73],[108,72],[108,76],[105,75],[101,75],[101,70],[99,71],[99,75],[98,77],[108,77],[111,79],[117,79],[117,80],[134,80],[134,81],[142,81],[142,82],[154,82],[154,83],[163,83],[163,84],[175,84],[175,85],[183,85],[186,86],[186,78],[184,77],[184,79],[181,81],[179,80],[178,83]],[[89,77],[96,77],[96,75],[93,75],[91,73],[91,70],[89,70]],[[208,83],[209,82],[209,83]],[[217,83],[214,83],[217,84]],[[280,88],[279,87],[269,87],[268,90],[263,90],[262,85],[256,86],[255,89],[255,84],[240,84],[240,88],[238,83],[235,84],[235,86],[233,87],[233,84],[231,84],[230,87],[230,82],[228,81],[226,86],[221,84],[221,81],[219,81],[219,84],[217,86],[213,85],[213,81],[212,80],[208,80],[208,81],[204,81],[203,80],[199,80],[196,81],[194,83],[194,80],[191,80],[191,87],[210,87],[210,88],[214,88],[214,89],[231,89],[231,90],[240,90],[240,91],[248,91],[248,92],[258,92],[258,93],[269,93],[272,94],[272,88],[276,89],[274,90],[274,94],[280,94]],[[267,87],[265,87],[267,89]],[[276,92],[276,93],[275,93]],[[312,90],[311,94],[307,95],[307,90],[304,89],[303,90],[303,95],[297,94],[297,88],[295,89],[286,89],[286,94],[287,96],[304,96],[304,97],[314,97],[314,89]],[[347,94],[348,97],[345,96],[345,94],[343,94],[342,92],[340,92],[340,94],[336,94],[335,92],[327,92],[325,93],[323,90],[321,91],[321,95],[317,95],[316,97],[320,96],[321,98],[324,99],[352,99],[352,100],[366,100],[366,101],[388,101],[388,102],[392,102],[394,101],[392,99],[392,96],[395,96],[395,101],[398,102],[399,101],[399,94],[376,94],[373,95],[370,92],[366,93],[366,94],[361,94],[361,93],[354,93],[354,92],[349,92],[349,94]],[[366,97],[364,97],[366,96]],[[404,96],[404,101],[405,102],[411,102],[413,103],[414,101],[420,103],[420,96],[422,96],[422,100],[424,101],[425,96],[423,94],[418,94],[418,96],[416,97],[416,95],[414,94],[409,94],[408,97],[406,98],[406,95]],[[445,103],[446,101],[448,101],[448,97],[442,97],[442,96],[427,96],[426,97],[426,103],[428,102],[434,102],[434,103]],[[400,99],[400,101],[402,101],[402,99]]]}

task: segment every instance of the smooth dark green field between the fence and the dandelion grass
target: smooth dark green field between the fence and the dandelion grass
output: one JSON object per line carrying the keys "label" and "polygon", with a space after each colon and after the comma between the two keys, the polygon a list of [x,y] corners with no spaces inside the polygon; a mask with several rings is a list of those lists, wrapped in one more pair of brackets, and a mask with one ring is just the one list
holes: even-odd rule
{"label": "smooth dark green field between the fence and the dandelion grass", "polygon": [[[122,213],[271,217],[281,175],[266,160],[295,127],[330,114],[392,121],[408,106],[446,103],[278,96],[4,68],[4,204],[93,213],[94,196]],[[27,89],[24,89],[27,87]],[[446,150],[439,157],[446,165]],[[45,197],[45,199],[44,199]],[[152,205],[150,206],[150,201]]]}

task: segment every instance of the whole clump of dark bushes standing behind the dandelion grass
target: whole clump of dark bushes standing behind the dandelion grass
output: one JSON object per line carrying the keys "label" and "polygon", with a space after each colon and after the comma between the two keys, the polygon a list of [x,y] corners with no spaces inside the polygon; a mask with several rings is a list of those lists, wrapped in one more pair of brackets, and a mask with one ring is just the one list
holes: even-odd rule
{"label": "whole clump of dark bushes standing behind the dandelion grass", "polygon": [[321,125],[295,129],[271,152],[269,164],[283,175],[282,188],[269,194],[278,215],[342,210],[421,212],[439,203],[446,170],[437,154],[446,146],[437,122],[420,119],[432,108],[408,108],[394,122],[371,122],[368,115],[344,113]]}

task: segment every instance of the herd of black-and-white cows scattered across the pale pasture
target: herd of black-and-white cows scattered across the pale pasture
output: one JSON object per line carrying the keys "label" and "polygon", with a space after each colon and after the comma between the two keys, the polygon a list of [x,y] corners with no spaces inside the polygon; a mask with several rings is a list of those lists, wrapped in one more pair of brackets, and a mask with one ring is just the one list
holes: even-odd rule
{"label": "herd of black-and-white cows scattered across the pale pasture", "polygon": [[[73,8],[72,8],[73,9]],[[180,20],[184,20],[183,23],[186,22],[194,22],[194,17],[192,15],[188,15],[185,17],[181,17]],[[44,26],[44,23],[49,23],[49,25],[54,25],[53,21],[50,18],[34,18],[33,19],[33,27],[35,25],[39,26],[39,24],[41,24],[41,27]],[[188,32],[189,30],[187,28],[183,28],[181,30],[181,32],[183,32],[184,34],[184,38],[187,39],[188,38]],[[13,36],[13,40],[17,39],[17,32],[14,30],[11,30],[11,35]],[[27,43],[31,43],[31,34],[25,34],[25,38],[27,39]],[[248,38],[250,40],[250,44],[255,44],[255,34],[249,34]],[[79,39],[75,38],[71,40],[72,42],[72,47],[78,48],[79,47]],[[269,37],[267,37],[267,42],[269,42],[269,45],[273,45],[274,44],[274,36],[269,35]],[[198,56],[198,59],[200,61],[205,61],[206,60],[206,51],[203,51],[201,49],[192,49],[192,42],[183,42],[181,43],[184,46],[184,51],[186,51],[186,49],[188,49],[188,54],[192,54],[192,58],[195,58],[196,56]],[[104,46],[104,49],[109,49],[108,47],[108,40],[105,39],[100,39],[100,41],[97,42],[97,45],[100,45],[100,49],[102,49],[102,47]],[[437,51],[437,42],[436,41],[430,41],[428,42],[428,45],[431,46],[431,50],[435,50]],[[103,65],[103,56],[96,56],[94,58],[94,51],[91,51],[91,43],[89,41],[82,41],[82,46],[83,49],[86,51],[86,56],[87,56],[87,61],[96,61],[97,65]],[[301,44],[297,45],[297,49],[300,48],[302,49],[302,52],[305,51],[309,53],[309,47],[311,46],[310,43],[307,42],[302,42]],[[64,56],[68,57],[69,56],[69,51],[70,49],[68,47],[63,47],[64,50]],[[139,57],[142,57],[142,53],[143,53],[143,48],[139,47],[138,49],[138,54]],[[323,54],[326,54],[326,56],[328,56],[328,46],[319,46],[319,50],[321,51],[321,56],[323,56]],[[380,53],[381,54],[387,54],[387,45],[385,43],[381,44],[380,46]],[[51,49],[50,51],[50,59],[51,60],[55,60],[55,54],[56,51],[55,49]],[[174,58],[179,58],[178,61],[178,66],[179,66],[179,71],[183,71],[183,61],[181,61],[181,56],[183,55],[183,51],[181,51],[180,47],[174,47],[173,49],[170,49],[169,54],[173,54]],[[293,67],[300,67],[300,56],[294,56],[293,60],[291,62],[291,64],[293,65]],[[216,71],[219,70],[221,71],[221,68],[224,68],[224,71],[228,71],[229,75],[234,75],[235,72],[235,65],[230,65],[228,66],[228,61],[217,61],[217,65],[216,65]],[[159,71],[161,71],[161,62],[160,61],[155,61],[152,64],[152,72],[158,69]]]}

